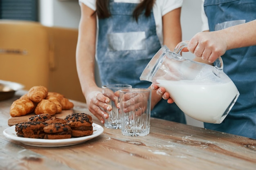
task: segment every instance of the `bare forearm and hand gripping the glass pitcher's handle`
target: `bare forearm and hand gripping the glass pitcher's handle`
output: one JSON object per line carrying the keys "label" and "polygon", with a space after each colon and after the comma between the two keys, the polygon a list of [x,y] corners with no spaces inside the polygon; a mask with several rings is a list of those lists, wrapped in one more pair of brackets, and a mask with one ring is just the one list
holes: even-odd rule
{"label": "bare forearm and hand gripping the glass pitcher's handle", "polygon": [[229,49],[252,45],[256,45],[256,20],[219,31],[197,33],[187,49],[196,57],[213,63]]}

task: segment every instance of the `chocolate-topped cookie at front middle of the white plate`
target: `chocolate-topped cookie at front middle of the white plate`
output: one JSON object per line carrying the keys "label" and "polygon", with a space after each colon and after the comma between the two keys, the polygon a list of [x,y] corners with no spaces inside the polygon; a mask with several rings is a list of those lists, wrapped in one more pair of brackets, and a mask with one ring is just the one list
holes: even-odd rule
{"label": "chocolate-topped cookie at front middle of the white plate", "polygon": [[44,139],[67,139],[71,138],[71,128],[67,124],[52,123],[43,128]]}

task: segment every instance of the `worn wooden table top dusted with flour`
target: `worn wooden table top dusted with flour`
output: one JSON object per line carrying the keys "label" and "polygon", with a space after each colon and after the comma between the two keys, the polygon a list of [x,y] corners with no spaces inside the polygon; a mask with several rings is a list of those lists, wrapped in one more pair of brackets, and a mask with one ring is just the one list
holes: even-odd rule
{"label": "worn wooden table top dusted with flour", "polygon": [[[127,137],[119,129],[74,146],[44,148],[10,142],[11,103],[0,102],[0,170],[256,170],[256,140],[151,118],[150,134]],[[74,102],[74,112],[91,114]],[[91,114],[92,115],[92,114]]]}

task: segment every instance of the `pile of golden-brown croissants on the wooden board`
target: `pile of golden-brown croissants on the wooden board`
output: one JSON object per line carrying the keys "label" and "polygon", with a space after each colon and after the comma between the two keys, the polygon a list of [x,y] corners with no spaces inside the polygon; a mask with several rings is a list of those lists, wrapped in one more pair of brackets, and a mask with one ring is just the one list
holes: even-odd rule
{"label": "pile of golden-brown croissants on the wooden board", "polygon": [[47,113],[55,115],[62,110],[74,107],[64,95],[56,92],[48,92],[44,86],[33,86],[28,93],[22,95],[11,104],[10,115],[17,117],[34,112],[36,115]]}

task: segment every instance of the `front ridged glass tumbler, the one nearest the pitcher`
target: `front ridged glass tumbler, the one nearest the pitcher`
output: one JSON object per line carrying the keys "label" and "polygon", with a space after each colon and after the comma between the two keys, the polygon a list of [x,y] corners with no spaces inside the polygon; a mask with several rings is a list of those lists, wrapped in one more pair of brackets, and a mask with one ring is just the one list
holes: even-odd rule
{"label": "front ridged glass tumbler, the one nearest the pitcher", "polygon": [[150,131],[151,90],[120,90],[121,132],[126,136],[146,136]]}

